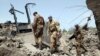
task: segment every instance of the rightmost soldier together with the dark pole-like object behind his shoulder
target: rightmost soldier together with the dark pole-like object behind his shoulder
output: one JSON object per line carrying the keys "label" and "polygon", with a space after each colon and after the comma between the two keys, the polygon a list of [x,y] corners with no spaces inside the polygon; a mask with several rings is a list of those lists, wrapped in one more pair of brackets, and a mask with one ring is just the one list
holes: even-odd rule
{"label": "rightmost soldier together with the dark pole-like object behind his shoulder", "polygon": [[83,46],[83,39],[84,39],[84,35],[87,34],[88,31],[88,22],[91,20],[90,17],[88,17],[87,23],[82,27],[82,29],[80,29],[79,25],[75,25],[75,31],[74,34],[69,38],[70,40],[75,38],[76,40],[76,52],[77,52],[77,56],[81,56],[82,50],[81,48],[84,50],[84,53],[87,52],[87,50],[84,48]]}

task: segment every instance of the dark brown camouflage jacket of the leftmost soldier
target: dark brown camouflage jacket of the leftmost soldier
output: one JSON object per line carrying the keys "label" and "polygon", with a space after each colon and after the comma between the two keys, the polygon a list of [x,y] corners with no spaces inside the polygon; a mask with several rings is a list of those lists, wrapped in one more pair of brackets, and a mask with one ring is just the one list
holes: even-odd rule
{"label": "dark brown camouflage jacket of the leftmost soldier", "polygon": [[34,33],[36,35],[43,34],[44,25],[45,25],[44,18],[40,15],[36,15],[34,18],[34,25],[33,25]]}

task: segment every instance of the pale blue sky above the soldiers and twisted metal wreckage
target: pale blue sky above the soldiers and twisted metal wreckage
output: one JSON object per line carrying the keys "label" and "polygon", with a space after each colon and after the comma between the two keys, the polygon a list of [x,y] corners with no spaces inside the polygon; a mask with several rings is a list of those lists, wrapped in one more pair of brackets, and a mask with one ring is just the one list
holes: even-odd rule
{"label": "pale blue sky above the soldiers and twisted metal wreckage", "polygon": [[24,6],[26,3],[36,3],[35,6],[29,6],[32,23],[34,19],[32,14],[37,11],[44,17],[45,21],[48,21],[48,17],[52,16],[54,20],[60,23],[61,29],[69,30],[73,28],[75,24],[83,26],[87,21],[87,17],[90,15],[92,20],[89,22],[89,27],[95,27],[94,16],[92,15],[92,11],[87,8],[85,1],[86,0],[0,0],[0,23],[4,23],[8,20],[14,22],[13,15],[9,13],[9,9],[11,8],[10,4],[13,4],[15,9],[24,12],[24,14],[16,12],[18,22],[27,22]]}

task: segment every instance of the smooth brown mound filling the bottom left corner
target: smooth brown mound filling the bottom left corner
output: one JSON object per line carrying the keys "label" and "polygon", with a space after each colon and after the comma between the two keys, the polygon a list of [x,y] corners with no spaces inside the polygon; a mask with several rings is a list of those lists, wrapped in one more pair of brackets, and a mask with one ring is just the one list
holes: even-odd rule
{"label": "smooth brown mound filling the bottom left corner", "polygon": [[17,49],[0,47],[0,56],[26,56],[26,54]]}

